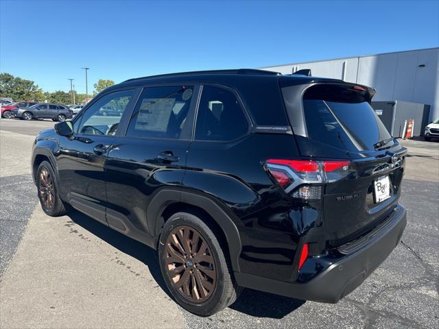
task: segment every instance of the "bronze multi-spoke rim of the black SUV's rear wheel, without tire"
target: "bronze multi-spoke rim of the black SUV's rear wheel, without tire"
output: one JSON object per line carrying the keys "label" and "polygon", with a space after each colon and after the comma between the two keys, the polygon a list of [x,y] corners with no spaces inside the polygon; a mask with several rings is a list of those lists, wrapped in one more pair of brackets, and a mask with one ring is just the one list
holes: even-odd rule
{"label": "bronze multi-spoke rim of the black SUV's rear wheel, without tire", "polygon": [[189,226],[178,226],[166,241],[167,275],[180,294],[193,303],[213,295],[217,273],[211,248],[203,236]]}

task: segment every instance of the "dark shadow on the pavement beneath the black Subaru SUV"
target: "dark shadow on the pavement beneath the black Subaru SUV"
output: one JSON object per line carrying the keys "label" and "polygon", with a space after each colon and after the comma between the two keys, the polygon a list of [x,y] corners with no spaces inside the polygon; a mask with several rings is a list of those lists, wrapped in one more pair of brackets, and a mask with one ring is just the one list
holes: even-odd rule
{"label": "dark shadow on the pavement beneath the black Subaru SUV", "polygon": [[[148,267],[158,286],[173,299],[163,280],[160,266],[158,265],[157,254],[154,249],[112,230],[112,228],[95,221],[81,212],[72,211],[68,217],[70,217],[74,223],[88,232],[91,232],[99,239],[119,249],[120,252],[140,260]],[[230,305],[230,308],[253,317],[281,319],[302,306],[302,304],[305,304],[304,300],[296,300],[294,298],[273,295],[272,293],[244,289],[238,300]]]}

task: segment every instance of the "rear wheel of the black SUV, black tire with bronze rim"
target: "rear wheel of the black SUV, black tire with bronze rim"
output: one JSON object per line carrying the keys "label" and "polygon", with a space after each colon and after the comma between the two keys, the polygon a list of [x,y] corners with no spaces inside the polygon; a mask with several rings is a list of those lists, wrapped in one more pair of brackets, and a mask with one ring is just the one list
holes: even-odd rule
{"label": "rear wheel of the black SUV, black tire with bronze rim", "polygon": [[[195,232],[206,243],[206,248],[203,248],[204,243],[195,238]],[[190,241],[185,240],[186,236]],[[193,245],[195,241],[198,243]],[[186,245],[187,249],[180,249],[178,245]],[[180,306],[195,315],[213,315],[235,302],[241,292],[233,278],[230,260],[224,254],[224,249],[211,228],[195,215],[177,212],[166,221],[158,244],[158,258],[171,295]],[[194,281],[195,286],[192,283]]]}

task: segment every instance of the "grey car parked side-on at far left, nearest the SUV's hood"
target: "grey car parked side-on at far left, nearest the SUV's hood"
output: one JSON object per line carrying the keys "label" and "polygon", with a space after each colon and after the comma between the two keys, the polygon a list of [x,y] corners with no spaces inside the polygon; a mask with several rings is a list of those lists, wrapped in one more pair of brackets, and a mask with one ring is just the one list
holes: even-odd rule
{"label": "grey car parked side-on at far left, nearest the SUV's hood", "polygon": [[23,120],[52,119],[53,121],[66,121],[66,119],[73,117],[73,111],[60,104],[36,103],[29,107],[14,108],[12,115]]}

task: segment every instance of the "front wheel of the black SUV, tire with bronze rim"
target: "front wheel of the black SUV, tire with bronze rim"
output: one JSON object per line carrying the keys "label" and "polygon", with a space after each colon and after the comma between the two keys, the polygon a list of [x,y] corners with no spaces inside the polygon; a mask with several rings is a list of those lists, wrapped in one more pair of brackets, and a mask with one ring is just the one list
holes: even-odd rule
{"label": "front wheel of the black SUV, tire with bronze rim", "polygon": [[[67,202],[63,202],[58,195],[56,176],[51,164],[43,161],[38,166],[36,175],[36,186],[38,189],[38,199],[40,200],[43,211],[52,217],[66,215],[71,210]],[[48,202],[48,200],[51,202]]]}

